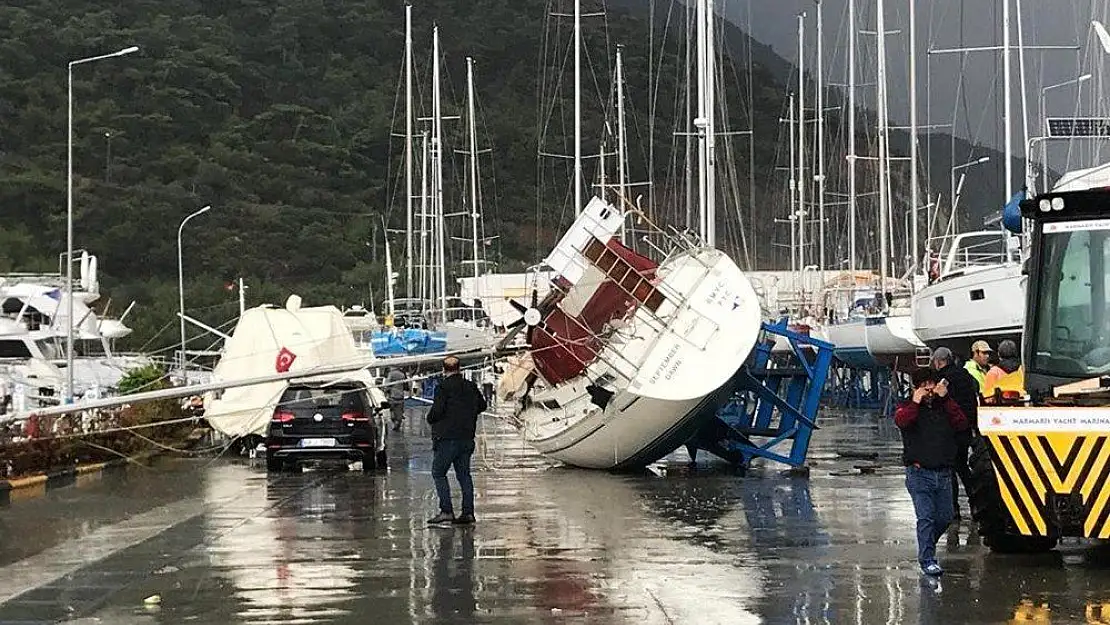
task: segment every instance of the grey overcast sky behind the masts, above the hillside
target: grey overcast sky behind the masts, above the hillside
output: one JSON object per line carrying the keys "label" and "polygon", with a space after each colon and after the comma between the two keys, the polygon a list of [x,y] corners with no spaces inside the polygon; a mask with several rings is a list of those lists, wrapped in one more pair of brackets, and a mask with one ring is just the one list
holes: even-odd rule
{"label": "grey overcast sky behind the masts, above the hillside", "polygon": [[[750,1],[751,22],[747,21]],[[1030,134],[1039,134],[1041,88],[1093,72],[1094,78],[1082,85],[1077,100],[1074,87],[1049,93],[1050,115],[1110,114],[1107,88],[1110,87],[1110,57],[1099,47],[1091,30],[1091,20],[1110,23],[1110,1],[1107,0],[1017,0],[1025,11],[1022,26],[1026,46],[1078,46],[1079,50],[1027,52],[1027,95]],[[809,49],[807,72],[814,68],[816,40],[816,2],[814,0],[716,0],[718,12],[726,19],[750,30],[755,38],[796,62],[797,14],[807,11],[806,38]],[[848,0],[825,0],[825,63],[827,81],[845,81],[847,65]],[[1011,6],[1012,7],[1012,6]],[[857,24],[861,30],[876,28],[876,0],[857,0]],[[928,54],[930,49],[975,46],[1000,46],[1002,41],[1001,0],[917,0],[918,40],[918,115],[925,124],[955,123],[956,134],[1001,149],[1001,54],[978,52],[961,54]],[[887,38],[887,62],[890,72],[888,90],[894,123],[908,120],[908,14],[909,0],[886,0],[886,28],[900,30]],[[1012,42],[1017,46],[1017,9],[1012,9]],[[862,82],[874,83],[876,72],[876,38],[860,34],[857,72]],[[962,80],[961,80],[962,79]],[[1100,80],[1101,79],[1101,80]],[[1018,56],[1013,56],[1013,80],[1018,80]],[[874,87],[857,92],[860,102],[875,107]],[[1101,97],[1100,97],[1101,95]],[[1097,104],[1099,103],[1099,104]],[[1015,154],[1021,154],[1020,92],[1015,89],[1013,114]],[[1059,158],[1067,157],[1060,152]],[[1088,155],[1088,159],[1091,158]],[[1078,155],[1073,154],[1076,161]],[[1089,167],[1073,162],[1073,167]],[[1064,168],[1066,163],[1053,163]]]}

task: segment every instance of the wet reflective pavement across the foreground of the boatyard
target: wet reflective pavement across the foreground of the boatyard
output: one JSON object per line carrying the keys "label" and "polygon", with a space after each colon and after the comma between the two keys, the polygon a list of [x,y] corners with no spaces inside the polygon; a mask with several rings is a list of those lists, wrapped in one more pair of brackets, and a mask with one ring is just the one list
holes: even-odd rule
{"label": "wet reflective pavement across the foreground of the boatyard", "polygon": [[993,556],[963,525],[922,578],[890,423],[825,423],[806,478],[554,467],[491,420],[468,528],[424,525],[418,422],[387,474],[109,473],[0,508],[0,623],[1110,623],[1106,550]]}

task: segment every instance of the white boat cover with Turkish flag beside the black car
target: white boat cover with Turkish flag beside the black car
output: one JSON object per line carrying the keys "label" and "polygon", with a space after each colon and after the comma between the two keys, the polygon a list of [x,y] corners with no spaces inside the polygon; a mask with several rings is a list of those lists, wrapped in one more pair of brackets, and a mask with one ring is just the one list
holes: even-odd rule
{"label": "white boat cover with Turkish flag beside the black car", "polygon": [[[355,346],[337,308],[302,309],[301,299],[291,295],[284,309],[264,305],[243,313],[224,345],[213,380],[226,382],[359,361],[369,363],[370,356]],[[366,372],[350,375],[370,376]],[[263,434],[287,384],[278,381],[226,389],[219,396],[209,393],[205,417],[215,431],[229,436]]]}

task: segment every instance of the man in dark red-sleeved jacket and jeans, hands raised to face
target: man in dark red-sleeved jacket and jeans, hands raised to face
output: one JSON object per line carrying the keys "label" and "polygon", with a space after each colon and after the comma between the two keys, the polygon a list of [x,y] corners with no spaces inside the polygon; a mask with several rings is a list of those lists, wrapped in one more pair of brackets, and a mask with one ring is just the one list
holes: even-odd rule
{"label": "man in dark red-sleeved jacket and jeans, hands raised to face", "polygon": [[914,397],[895,412],[901,430],[906,490],[917,514],[917,561],[926,575],[941,575],[937,540],[952,518],[952,464],[957,437],[968,429],[967,417],[949,395],[948,384],[936,383],[928,369],[914,372]]}

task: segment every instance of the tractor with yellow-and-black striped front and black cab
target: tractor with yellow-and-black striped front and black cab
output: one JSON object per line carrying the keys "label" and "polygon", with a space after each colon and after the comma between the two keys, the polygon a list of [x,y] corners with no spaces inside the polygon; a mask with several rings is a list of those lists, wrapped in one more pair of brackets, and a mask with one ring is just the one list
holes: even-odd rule
{"label": "tractor with yellow-and-black striped front and black cab", "polygon": [[1011,553],[1110,538],[1110,188],[1045,193],[1021,216],[1023,389],[980,407],[968,493],[983,543]]}

